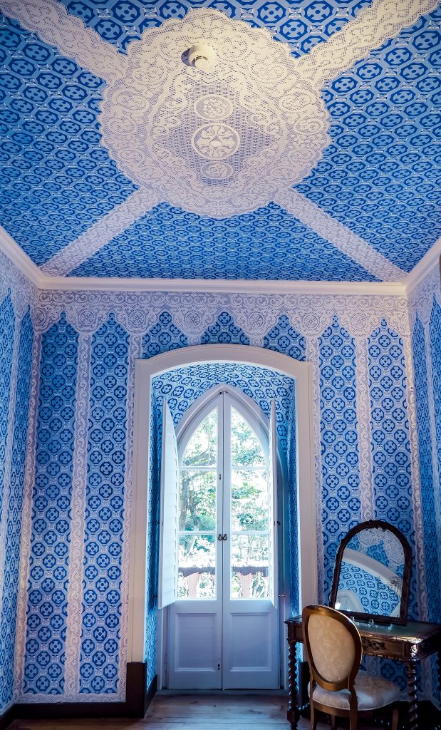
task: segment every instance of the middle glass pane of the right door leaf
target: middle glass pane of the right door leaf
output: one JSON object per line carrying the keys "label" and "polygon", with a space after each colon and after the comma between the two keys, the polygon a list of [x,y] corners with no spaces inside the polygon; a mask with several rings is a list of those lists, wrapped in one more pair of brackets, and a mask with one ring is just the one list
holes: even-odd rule
{"label": "middle glass pane of the right door leaf", "polygon": [[268,482],[263,469],[231,471],[231,530],[268,529]]}

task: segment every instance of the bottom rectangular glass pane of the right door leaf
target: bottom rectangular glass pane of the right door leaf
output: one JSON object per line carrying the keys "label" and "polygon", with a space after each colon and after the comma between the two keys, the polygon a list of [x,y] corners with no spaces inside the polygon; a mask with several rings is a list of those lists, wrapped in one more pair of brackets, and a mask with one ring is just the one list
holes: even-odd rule
{"label": "bottom rectangular glass pane of the right door leaf", "polygon": [[269,537],[231,537],[231,598],[259,599],[269,596]]}

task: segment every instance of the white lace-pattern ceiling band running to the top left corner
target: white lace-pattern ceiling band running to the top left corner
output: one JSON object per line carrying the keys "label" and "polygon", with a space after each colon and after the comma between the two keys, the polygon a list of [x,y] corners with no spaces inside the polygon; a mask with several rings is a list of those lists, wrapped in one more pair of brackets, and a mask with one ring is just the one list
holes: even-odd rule
{"label": "white lace-pattern ceiling band running to the top left corner", "polygon": [[58,0],[0,0],[0,11],[101,79],[123,74],[126,57]]}

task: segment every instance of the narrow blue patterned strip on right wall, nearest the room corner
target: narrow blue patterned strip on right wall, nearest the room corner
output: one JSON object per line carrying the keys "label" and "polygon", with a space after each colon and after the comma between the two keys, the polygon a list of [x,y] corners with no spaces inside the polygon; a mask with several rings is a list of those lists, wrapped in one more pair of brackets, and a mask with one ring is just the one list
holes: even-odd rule
{"label": "narrow blue patterned strip on right wall, nearest the room corner", "polygon": [[429,621],[441,619],[440,534],[434,495],[432,434],[429,420],[429,390],[424,328],[417,319],[413,328],[413,366],[415,369],[416,422],[420,462],[421,502],[423,504],[423,545],[426,558],[427,610]]}

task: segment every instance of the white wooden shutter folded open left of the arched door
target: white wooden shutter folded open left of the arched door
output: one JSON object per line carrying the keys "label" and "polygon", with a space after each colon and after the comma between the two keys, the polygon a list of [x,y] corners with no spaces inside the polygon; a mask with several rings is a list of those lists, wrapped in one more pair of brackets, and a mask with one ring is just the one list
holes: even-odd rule
{"label": "white wooden shutter folded open left of the arched door", "polygon": [[162,408],[161,513],[159,527],[158,608],[176,601],[178,552],[179,458],[172,414]]}

